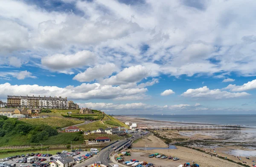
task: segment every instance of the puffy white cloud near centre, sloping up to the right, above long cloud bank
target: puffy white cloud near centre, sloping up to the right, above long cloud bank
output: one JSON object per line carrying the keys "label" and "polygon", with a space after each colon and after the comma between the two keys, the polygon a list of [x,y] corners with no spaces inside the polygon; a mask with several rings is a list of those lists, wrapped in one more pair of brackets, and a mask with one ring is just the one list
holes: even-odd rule
{"label": "puffy white cloud near centre, sloping up to the right, above long cloud bank", "polygon": [[118,74],[113,75],[110,78],[106,78],[102,81],[102,83],[108,85],[120,85],[131,82],[140,82],[143,78],[147,78],[148,76],[150,76],[150,73],[151,71],[145,66],[130,66],[123,69]]}

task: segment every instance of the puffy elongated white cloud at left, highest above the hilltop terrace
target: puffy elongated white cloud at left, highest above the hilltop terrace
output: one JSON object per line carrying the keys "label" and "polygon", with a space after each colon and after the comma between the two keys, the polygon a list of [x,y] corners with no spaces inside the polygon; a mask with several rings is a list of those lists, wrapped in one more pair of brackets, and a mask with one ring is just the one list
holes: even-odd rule
{"label": "puffy elongated white cloud at left, highest above the hilltop terrace", "polygon": [[54,70],[90,66],[95,61],[96,55],[88,50],[83,50],[73,55],[56,54],[41,59],[42,65]]}

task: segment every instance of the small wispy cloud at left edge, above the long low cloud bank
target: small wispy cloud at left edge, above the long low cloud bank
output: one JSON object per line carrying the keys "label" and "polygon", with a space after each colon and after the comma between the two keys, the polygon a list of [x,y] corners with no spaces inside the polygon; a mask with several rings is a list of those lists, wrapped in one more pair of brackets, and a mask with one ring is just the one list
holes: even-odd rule
{"label": "small wispy cloud at left edge, above the long low cloud bank", "polygon": [[33,76],[31,72],[28,71],[12,71],[12,72],[1,72],[1,77],[5,80],[11,80],[11,77],[17,78],[18,80],[23,80],[25,78],[37,78]]}

